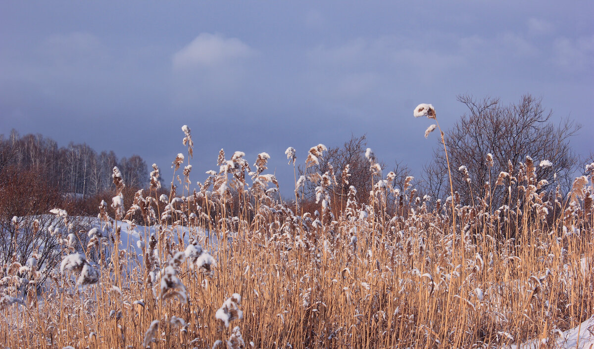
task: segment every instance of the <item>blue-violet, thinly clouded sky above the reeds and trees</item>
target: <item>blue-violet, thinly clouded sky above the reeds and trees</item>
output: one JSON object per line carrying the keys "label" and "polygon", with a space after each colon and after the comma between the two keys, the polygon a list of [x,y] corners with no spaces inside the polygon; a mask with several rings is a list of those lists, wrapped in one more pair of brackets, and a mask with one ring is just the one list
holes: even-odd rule
{"label": "blue-violet, thinly clouded sky above the reeds and trees", "polygon": [[304,163],[365,134],[388,170],[421,176],[439,143],[417,104],[445,131],[466,112],[459,94],[529,93],[553,122],[582,124],[571,144],[589,154],[593,14],[592,1],[5,1],[0,134],[138,154],[166,175],[188,125],[192,180],[220,148],[266,152],[290,193],[287,147]]}

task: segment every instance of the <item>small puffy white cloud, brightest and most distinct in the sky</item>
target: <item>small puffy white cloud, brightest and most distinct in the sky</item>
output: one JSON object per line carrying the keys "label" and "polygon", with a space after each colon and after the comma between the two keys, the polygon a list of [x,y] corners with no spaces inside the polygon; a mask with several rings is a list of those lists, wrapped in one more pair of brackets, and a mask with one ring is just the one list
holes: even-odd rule
{"label": "small puffy white cloud, brightest and most distinct in the sky", "polygon": [[183,49],[173,54],[173,69],[213,67],[248,58],[254,49],[236,38],[201,33]]}

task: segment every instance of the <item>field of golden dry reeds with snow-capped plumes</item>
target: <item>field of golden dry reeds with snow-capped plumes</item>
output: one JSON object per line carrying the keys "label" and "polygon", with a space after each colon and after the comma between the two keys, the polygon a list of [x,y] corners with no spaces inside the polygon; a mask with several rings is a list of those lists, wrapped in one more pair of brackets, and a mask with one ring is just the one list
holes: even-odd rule
{"label": "field of golden dry reeds with snow-capped plumes", "polygon": [[[115,168],[96,228],[69,229],[63,210],[52,211],[60,227],[38,227],[58,239],[59,268],[34,257],[2,268],[2,347],[553,348],[594,315],[594,166],[567,196],[545,195],[528,157],[462,205],[458,193],[441,202],[394,188],[368,151],[367,203],[353,187],[329,194],[346,171],[296,178],[283,201],[266,153],[250,166],[222,151],[219,172],[190,190],[183,130],[179,188],[161,194],[153,166],[124,207]],[[295,150],[287,158],[295,166]],[[303,210],[305,181],[315,212]],[[502,188],[510,204],[492,207]]]}

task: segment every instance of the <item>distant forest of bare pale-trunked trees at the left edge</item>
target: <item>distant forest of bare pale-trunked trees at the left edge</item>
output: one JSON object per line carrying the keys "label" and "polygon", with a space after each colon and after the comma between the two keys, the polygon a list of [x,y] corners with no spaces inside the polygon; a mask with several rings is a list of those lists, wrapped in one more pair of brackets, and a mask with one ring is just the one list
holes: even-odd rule
{"label": "distant forest of bare pale-trunked trees at the left edge", "polygon": [[35,170],[52,189],[78,198],[109,191],[114,166],[127,186],[138,188],[148,183],[147,164],[138,155],[118,159],[113,151],[97,153],[85,143],[58,147],[51,138],[40,134],[20,137],[14,129],[8,136],[0,135],[0,175]]}

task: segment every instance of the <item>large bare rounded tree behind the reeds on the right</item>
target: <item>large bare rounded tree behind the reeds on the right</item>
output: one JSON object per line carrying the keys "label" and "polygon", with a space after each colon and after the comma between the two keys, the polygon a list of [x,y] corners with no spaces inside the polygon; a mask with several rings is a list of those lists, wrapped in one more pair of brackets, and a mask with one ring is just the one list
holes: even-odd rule
{"label": "large bare rounded tree behind the reeds on the right", "polygon": [[[536,161],[538,179],[548,181],[541,191],[570,185],[577,158],[569,140],[580,125],[569,119],[554,125],[552,112],[546,112],[541,100],[530,95],[509,105],[489,97],[476,100],[464,95],[458,96],[458,100],[466,105],[469,113],[445,132],[445,144],[450,154],[454,191],[460,193],[463,204],[470,204],[476,197],[483,198],[488,188],[486,182],[495,182],[500,172],[507,172],[508,161],[518,169],[520,163],[526,162],[526,156]],[[493,158],[492,167],[487,160],[489,153]],[[538,166],[542,160],[549,160],[551,166]],[[460,166],[466,166],[468,177],[458,170]],[[434,198],[448,195],[447,180],[443,149],[436,147],[434,161],[424,167],[424,190]],[[493,192],[493,204],[503,202],[504,196],[503,188]]]}

